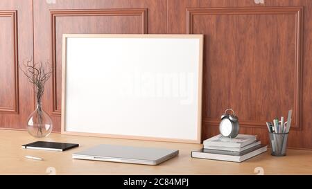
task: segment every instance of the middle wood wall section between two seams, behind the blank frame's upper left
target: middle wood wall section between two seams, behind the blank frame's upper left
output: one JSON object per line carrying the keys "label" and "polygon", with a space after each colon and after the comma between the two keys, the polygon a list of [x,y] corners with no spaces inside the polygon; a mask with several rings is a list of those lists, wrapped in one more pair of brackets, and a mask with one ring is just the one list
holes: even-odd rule
{"label": "middle wood wall section between two seams, behind the blank frame's upper left", "polygon": [[48,59],[55,68],[43,102],[53,116],[53,131],[60,132],[62,34],[166,33],[165,8],[165,0],[60,0],[55,4],[34,0],[34,46],[40,49],[35,51],[35,60]]}

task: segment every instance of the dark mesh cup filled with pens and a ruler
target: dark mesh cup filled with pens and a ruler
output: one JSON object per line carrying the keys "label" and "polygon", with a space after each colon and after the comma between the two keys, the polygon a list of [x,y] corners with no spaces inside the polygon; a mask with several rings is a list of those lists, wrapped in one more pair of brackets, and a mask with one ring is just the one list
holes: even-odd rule
{"label": "dark mesh cup filled with pens and a ruler", "polygon": [[281,117],[280,121],[276,118],[273,122],[266,123],[270,136],[272,156],[286,156],[287,138],[291,127],[291,114],[292,110],[289,110],[288,118],[285,122],[284,117]]}

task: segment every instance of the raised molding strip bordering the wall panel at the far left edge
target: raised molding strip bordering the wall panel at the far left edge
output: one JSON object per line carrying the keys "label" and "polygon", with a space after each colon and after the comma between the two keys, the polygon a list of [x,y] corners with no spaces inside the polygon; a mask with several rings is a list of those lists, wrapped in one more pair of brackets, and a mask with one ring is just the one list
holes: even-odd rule
{"label": "raised molding strip bordering the wall panel at the far left edge", "polygon": [[[0,10],[0,19],[1,17],[10,17],[12,20],[12,44],[8,44],[13,51],[12,57],[12,82],[14,86],[14,94],[10,98],[14,98],[12,107],[0,107],[0,113],[7,114],[19,114],[19,77],[18,77],[18,43],[17,43],[17,10]],[[3,29],[3,28],[1,28]]]}

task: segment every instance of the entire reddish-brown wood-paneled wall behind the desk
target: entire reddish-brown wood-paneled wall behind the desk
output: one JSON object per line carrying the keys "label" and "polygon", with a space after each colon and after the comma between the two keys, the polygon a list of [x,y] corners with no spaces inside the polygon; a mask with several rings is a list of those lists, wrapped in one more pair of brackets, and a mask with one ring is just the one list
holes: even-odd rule
{"label": "entire reddish-brown wood-paneled wall behind the desk", "polygon": [[[63,33],[204,34],[202,139],[232,107],[241,133],[268,143],[266,121],[293,109],[288,146],[312,149],[312,1],[1,0],[0,127],[25,129],[34,108],[17,62],[55,69],[44,108],[60,132]],[[87,64],[87,62],[86,62]]]}

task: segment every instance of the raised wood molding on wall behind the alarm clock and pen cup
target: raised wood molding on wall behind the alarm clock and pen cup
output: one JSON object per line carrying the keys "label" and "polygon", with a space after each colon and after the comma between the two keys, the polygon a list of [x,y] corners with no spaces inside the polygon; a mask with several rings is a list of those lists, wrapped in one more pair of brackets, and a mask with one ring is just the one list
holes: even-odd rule
{"label": "raised wood molding on wall behind the alarm clock and pen cup", "polygon": [[[242,8],[187,8],[186,33],[193,34],[194,16],[200,15],[293,15],[295,17],[295,60],[294,60],[294,109],[292,129],[302,129],[302,40],[303,40],[303,7],[242,7]],[[204,114],[203,114],[204,115]],[[241,127],[266,127],[267,120],[240,120]],[[220,118],[203,117],[203,125],[217,126]]]}

